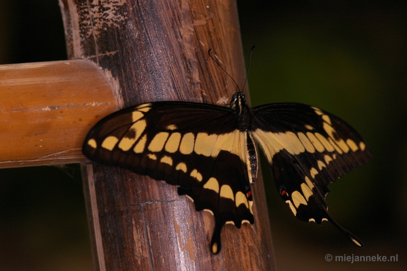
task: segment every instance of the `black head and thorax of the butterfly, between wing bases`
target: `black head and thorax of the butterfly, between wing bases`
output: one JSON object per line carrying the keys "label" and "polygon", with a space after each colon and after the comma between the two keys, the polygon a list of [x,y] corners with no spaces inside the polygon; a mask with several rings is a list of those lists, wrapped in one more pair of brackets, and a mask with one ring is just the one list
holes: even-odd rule
{"label": "black head and thorax of the butterfly, between wing bases", "polygon": [[234,116],[238,121],[239,130],[251,130],[252,113],[246,104],[246,98],[243,93],[236,92],[233,94],[229,108],[234,111]]}

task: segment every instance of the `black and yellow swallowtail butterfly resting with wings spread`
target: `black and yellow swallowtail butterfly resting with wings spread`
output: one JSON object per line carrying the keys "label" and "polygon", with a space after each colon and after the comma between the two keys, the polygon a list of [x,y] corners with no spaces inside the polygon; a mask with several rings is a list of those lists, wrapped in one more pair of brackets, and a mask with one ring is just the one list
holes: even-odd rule
{"label": "black and yellow swallowtail butterfly resting with wings spread", "polygon": [[351,232],[328,214],[328,184],[371,158],[359,133],[340,118],[303,104],[249,108],[235,93],[228,107],[157,101],[125,108],[100,120],[83,143],[90,160],[126,168],[176,185],[196,211],[215,219],[210,250],[221,250],[226,223],[254,223],[250,185],[257,177],[257,147],[270,164],[276,188],[294,215],[327,220],[353,243]]}

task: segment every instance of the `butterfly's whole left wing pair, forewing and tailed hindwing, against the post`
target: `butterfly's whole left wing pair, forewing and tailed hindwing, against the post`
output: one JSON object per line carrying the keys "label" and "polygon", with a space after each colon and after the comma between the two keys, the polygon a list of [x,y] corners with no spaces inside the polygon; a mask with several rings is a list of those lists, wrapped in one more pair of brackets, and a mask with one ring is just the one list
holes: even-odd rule
{"label": "butterfly's whole left wing pair, forewing and tailed hindwing, against the post", "polygon": [[98,122],[84,141],[83,153],[95,162],[177,185],[197,211],[214,215],[211,250],[218,253],[225,223],[240,228],[243,222],[254,222],[252,179],[245,160],[250,138],[237,127],[227,107],[177,101],[143,104]]}

